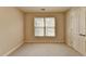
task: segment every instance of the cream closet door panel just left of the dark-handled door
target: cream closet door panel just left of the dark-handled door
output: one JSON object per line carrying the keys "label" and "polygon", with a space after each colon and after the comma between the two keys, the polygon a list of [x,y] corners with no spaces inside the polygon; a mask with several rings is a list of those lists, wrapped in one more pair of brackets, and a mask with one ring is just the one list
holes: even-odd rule
{"label": "cream closet door panel just left of the dark-handled door", "polygon": [[78,23],[79,23],[79,9],[73,9],[73,21],[72,21],[72,47],[78,51]]}

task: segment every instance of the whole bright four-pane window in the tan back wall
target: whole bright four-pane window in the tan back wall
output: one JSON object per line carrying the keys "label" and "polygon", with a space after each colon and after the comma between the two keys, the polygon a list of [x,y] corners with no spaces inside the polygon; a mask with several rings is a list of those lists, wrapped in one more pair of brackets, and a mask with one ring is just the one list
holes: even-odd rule
{"label": "whole bright four-pane window in the tan back wall", "polygon": [[54,37],[56,36],[54,17],[35,17],[35,36],[37,37]]}

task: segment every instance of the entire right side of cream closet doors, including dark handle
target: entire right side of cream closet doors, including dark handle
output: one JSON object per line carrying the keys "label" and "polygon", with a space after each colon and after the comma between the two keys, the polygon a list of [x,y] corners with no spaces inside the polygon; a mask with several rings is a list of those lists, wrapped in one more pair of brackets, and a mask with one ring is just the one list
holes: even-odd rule
{"label": "entire right side of cream closet doors, including dark handle", "polygon": [[66,17],[67,44],[86,55],[86,8],[72,8]]}

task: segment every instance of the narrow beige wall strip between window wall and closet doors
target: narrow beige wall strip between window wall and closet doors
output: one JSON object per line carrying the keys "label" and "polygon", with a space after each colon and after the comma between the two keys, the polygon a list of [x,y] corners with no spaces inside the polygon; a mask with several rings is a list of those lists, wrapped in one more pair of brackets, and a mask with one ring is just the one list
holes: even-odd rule
{"label": "narrow beige wall strip between window wall and closet doors", "polygon": [[65,13],[65,42],[69,44],[69,46],[72,46],[72,41],[71,41],[71,25],[72,25],[72,22],[71,22],[71,10],[69,10],[66,13]]}

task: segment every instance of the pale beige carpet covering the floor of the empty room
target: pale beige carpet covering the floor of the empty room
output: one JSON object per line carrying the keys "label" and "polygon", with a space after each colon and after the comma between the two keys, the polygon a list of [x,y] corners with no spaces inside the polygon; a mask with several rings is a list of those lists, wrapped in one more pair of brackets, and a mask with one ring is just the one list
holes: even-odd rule
{"label": "pale beige carpet covering the floor of the empty room", "polygon": [[24,43],[9,56],[81,56],[65,43]]}

